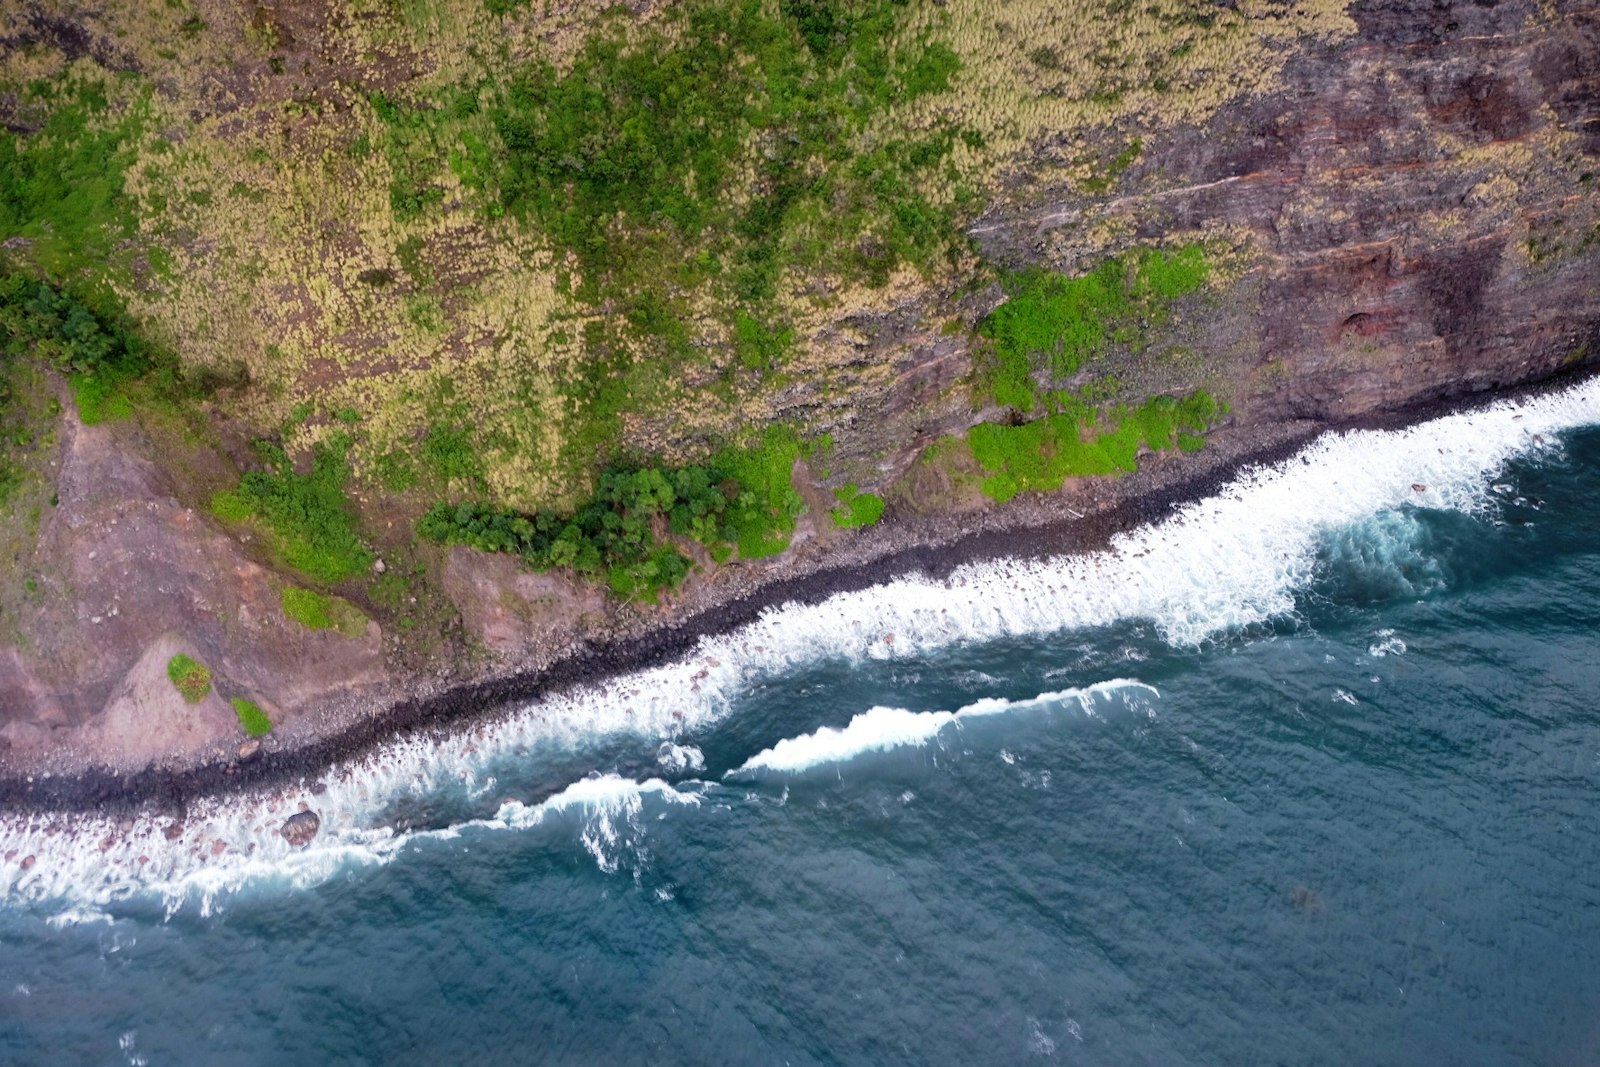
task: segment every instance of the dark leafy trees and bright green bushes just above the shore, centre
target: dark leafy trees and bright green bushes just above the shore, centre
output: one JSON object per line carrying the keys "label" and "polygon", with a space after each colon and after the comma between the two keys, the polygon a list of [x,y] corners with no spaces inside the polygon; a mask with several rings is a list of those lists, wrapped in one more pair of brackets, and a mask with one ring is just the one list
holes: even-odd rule
{"label": "dark leafy trees and bright green bushes just above the shore, centre", "polygon": [[659,533],[704,545],[717,560],[781,552],[802,499],[790,475],[798,440],[781,429],[755,446],[723,450],[707,466],[613,467],[571,514],[523,514],[466,501],[435,504],[418,531],[440,544],[514,552],[536,569],[568,566],[603,579],[621,597],[654,598],[690,573],[683,552]]}

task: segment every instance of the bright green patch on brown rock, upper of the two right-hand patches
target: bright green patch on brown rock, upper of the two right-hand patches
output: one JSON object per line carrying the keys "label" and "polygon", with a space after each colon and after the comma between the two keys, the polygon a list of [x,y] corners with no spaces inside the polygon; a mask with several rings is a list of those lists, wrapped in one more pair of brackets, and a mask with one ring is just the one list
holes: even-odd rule
{"label": "bright green patch on brown rock, upper of the two right-hand patches", "polygon": [[1035,373],[1067,378],[1112,342],[1136,344],[1208,274],[1200,245],[1128,253],[1077,278],[1042,269],[1013,274],[1005,278],[1010,299],[978,326],[994,342],[982,384],[995,403],[1034,411]]}

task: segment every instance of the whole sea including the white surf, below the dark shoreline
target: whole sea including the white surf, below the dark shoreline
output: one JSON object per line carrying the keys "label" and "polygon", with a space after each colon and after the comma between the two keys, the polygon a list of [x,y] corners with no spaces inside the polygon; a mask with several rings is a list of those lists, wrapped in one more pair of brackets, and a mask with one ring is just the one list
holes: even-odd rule
{"label": "whole sea including the white surf, below the dark shoreline", "polygon": [[1595,424],[1320,442],[171,838],[6,816],[0,1062],[1589,1062]]}

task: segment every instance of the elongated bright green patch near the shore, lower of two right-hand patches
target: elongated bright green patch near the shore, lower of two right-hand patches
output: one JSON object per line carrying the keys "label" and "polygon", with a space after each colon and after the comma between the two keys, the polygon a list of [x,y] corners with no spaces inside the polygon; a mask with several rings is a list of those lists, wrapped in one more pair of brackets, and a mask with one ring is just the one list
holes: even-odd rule
{"label": "elongated bright green patch near the shore, lower of two right-hand patches", "polygon": [[1117,408],[1104,429],[1083,413],[1050,414],[1021,426],[984,422],[966,442],[989,472],[984,493],[1005,502],[1022,491],[1054,491],[1069,477],[1128,474],[1141,446],[1195,451],[1200,434],[1219,414],[1205,390],[1187,397],[1152,397],[1138,408]]}

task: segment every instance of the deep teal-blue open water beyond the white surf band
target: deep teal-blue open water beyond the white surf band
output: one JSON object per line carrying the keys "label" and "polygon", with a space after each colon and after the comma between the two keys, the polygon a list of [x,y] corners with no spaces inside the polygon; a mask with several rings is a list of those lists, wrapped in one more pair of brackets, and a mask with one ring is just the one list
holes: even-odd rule
{"label": "deep teal-blue open water beyond the white surf band", "polygon": [[[1501,480],[1328,531],[1293,613],[1200,646],[814,662],[683,737],[675,792],[210,915],[0,905],[0,1062],[1600,1062],[1600,430]],[[1034,701],[1110,678],[1158,696]],[[1014,704],[726,777],[982,699]]]}

